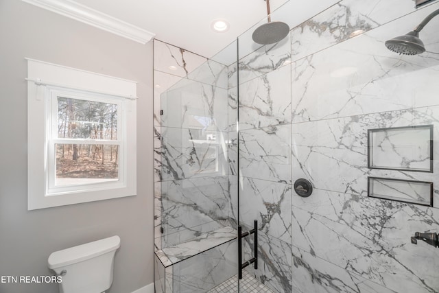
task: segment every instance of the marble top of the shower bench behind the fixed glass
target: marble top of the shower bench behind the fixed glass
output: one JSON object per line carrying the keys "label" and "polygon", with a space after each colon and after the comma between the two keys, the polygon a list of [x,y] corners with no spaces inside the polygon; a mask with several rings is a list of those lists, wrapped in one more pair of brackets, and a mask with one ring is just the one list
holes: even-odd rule
{"label": "marble top of the shower bench behind the fixed glass", "polygon": [[172,266],[175,263],[189,259],[207,250],[225,244],[237,238],[237,230],[225,226],[215,231],[203,233],[202,235],[161,250],[156,250],[156,255],[163,266]]}

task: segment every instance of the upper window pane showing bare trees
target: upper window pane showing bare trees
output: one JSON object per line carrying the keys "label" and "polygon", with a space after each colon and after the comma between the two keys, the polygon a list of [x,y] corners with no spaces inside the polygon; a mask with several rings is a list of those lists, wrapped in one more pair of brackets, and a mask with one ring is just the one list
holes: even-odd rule
{"label": "upper window pane showing bare trees", "polygon": [[117,104],[58,97],[58,138],[117,140]]}

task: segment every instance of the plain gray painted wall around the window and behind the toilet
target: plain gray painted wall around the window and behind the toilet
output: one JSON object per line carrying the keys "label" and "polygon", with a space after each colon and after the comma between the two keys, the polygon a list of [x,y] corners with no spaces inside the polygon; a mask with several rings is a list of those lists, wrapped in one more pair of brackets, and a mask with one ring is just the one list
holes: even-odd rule
{"label": "plain gray painted wall around the window and behind the toilet", "polygon": [[[27,211],[25,57],[139,82],[137,196]],[[49,275],[50,253],[121,237],[110,293],[153,281],[152,43],[141,45],[22,1],[0,1],[0,276]],[[1,293],[58,285],[0,283]]]}

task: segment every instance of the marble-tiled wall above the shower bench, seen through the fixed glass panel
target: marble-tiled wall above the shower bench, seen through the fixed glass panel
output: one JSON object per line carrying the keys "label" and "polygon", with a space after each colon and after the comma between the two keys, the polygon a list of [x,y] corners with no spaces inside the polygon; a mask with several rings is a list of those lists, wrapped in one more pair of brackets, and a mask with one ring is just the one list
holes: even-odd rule
{"label": "marble-tiled wall above the shower bench, seen through the fixed glass panel", "polygon": [[228,67],[154,40],[157,249],[228,225],[228,161]]}

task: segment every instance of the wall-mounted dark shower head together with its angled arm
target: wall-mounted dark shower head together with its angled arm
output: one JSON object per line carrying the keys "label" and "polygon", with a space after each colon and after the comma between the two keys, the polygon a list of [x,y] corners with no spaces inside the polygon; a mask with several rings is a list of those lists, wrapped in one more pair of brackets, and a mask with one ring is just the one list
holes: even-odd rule
{"label": "wall-mounted dark shower head together with its angled arm", "polygon": [[439,14],[439,9],[431,12],[412,32],[408,32],[404,36],[396,36],[391,40],[385,42],[385,47],[390,51],[394,51],[399,55],[416,55],[425,52],[424,43],[419,38],[419,32],[423,30],[424,26]]}

